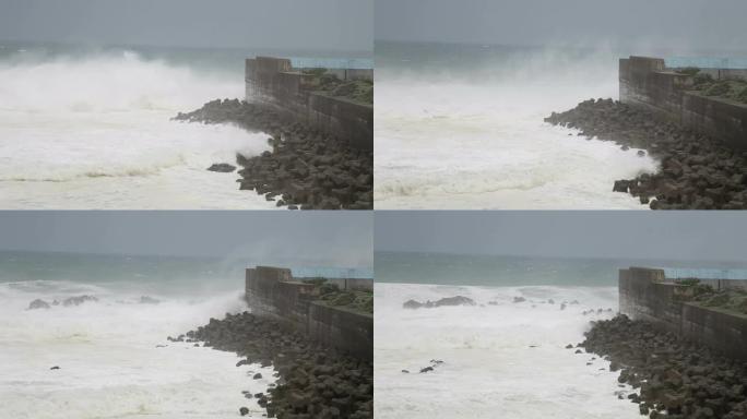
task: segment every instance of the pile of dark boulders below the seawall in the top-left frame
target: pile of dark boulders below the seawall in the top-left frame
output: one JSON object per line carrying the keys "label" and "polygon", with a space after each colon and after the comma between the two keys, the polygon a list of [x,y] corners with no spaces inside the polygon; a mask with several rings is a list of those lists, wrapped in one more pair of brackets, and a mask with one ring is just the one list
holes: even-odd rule
{"label": "pile of dark boulders below the seawall in the top-left frame", "polygon": [[[238,99],[213,100],[179,113],[178,121],[235,123],[268,132],[272,152],[236,156],[242,167],[237,182],[289,210],[371,210],[374,153],[356,149],[346,141],[324,135],[299,122],[284,122],[271,106]],[[277,199],[280,196],[280,199]]]}

